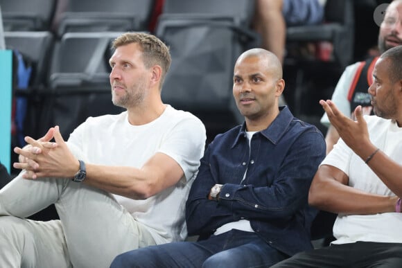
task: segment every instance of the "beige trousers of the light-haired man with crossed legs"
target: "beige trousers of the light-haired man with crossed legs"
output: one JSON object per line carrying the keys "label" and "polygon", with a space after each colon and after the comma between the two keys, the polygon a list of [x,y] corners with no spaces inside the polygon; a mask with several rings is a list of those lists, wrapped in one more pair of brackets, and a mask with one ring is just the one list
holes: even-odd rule
{"label": "beige trousers of the light-haired man with crossed legs", "polygon": [[[24,217],[55,204],[60,220]],[[109,267],[119,253],[155,244],[112,195],[70,179],[23,179],[0,190],[1,267]]]}

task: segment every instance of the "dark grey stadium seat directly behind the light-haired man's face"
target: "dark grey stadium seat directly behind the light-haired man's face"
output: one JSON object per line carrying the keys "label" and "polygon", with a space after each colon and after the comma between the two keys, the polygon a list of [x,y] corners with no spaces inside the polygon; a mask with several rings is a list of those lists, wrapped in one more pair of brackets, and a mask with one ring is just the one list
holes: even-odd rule
{"label": "dark grey stadium seat directly behind the light-haired man's face", "polygon": [[89,116],[118,114],[110,89],[111,42],[121,33],[66,33],[55,44],[42,131],[60,126],[64,139]]}

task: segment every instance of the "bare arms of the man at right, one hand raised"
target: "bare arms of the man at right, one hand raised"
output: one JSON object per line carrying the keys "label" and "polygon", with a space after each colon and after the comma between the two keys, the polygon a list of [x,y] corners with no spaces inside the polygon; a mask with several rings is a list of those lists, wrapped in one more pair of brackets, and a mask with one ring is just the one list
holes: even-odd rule
{"label": "bare arms of the man at right, one hand raised", "polygon": [[[369,139],[367,123],[362,117],[362,109],[356,107],[356,121],[344,116],[331,100],[321,100],[340,137],[371,168],[378,178],[397,196],[402,196],[402,166],[387,157]],[[376,152],[375,154],[373,154]],[[333,213],[373,214],[394,212],[398,197],[374,195],[348,186],[349,178],[338,168],[320,166],[309,192],[309,203],[317,208]]]}

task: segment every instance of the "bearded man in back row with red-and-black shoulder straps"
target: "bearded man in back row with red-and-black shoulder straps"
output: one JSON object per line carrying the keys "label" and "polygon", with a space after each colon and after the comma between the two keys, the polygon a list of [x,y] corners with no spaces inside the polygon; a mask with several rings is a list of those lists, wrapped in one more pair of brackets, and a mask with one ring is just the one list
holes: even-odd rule
{"label": "bearded man in back row with red-and-black shoulder straps", "polygon": [[[384,53],[387,49],[402,44],[402,1],[394,0],[387,7],[384,20],[378,34],[378,49]],[[353,118],[353,110],[362,106],[363,114],[372,114],[372,105],[367,88],[372,84],[372,71],[378,57],[372,57],[364,62],[356,62],[347,66],[333,91],[331,100],[343,114]],[[355,118],[353,118],[355,119]],[[326,132],[326,152],[330,152],[338,141],[339,134],[324,113],[320,122],[328,127]]]}

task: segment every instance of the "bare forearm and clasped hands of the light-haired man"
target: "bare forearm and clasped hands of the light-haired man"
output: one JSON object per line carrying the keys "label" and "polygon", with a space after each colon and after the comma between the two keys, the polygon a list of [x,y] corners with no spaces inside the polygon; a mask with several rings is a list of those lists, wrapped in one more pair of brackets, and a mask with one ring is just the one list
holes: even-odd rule
{"label": "bare forearm and clasped hands of the light-haired man", "polygon": [[[80,164],[62,139],[57,126],[53,129],[53,136],[55,143],[28,137],[29,148],[15,148],[15,152],[26,159],[14,164],[15,168],[27,170],[24,178],[71,179],[76,175]],[[141,168],[91,163],[86,163],[86,166],[85,184],[132,199],[146,199],[155,195],[175,185],[184,175],[180,165],[163,153],[155,154]]]}

